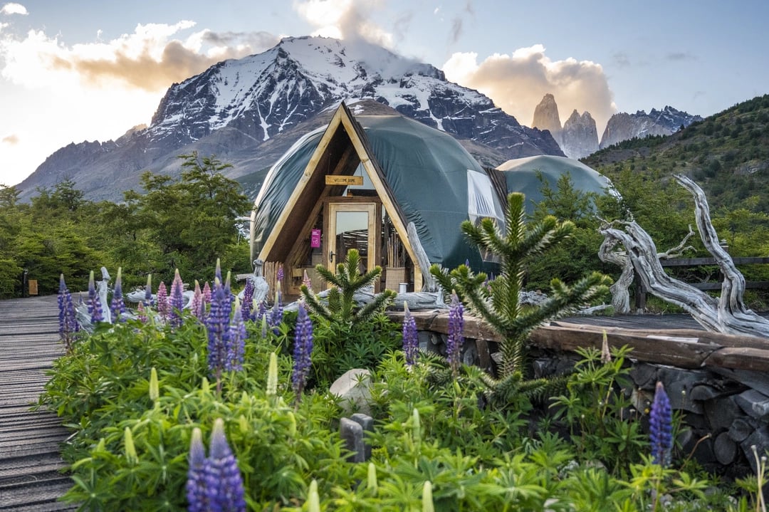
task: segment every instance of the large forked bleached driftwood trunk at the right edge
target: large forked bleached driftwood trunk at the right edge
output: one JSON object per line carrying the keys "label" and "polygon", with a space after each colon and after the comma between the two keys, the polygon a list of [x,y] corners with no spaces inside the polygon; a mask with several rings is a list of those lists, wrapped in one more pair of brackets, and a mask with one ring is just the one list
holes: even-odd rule
{"label": "large forked bleached driftwood trunk at the right edge", "polygon": [[[691,284],[665,274],[657,258],[654,241],[635,221],[615,222],[601,229],[601,233],[605,238],[617,240],[624,245],[644,288],[664,301],[684,308],[708,331],[769,337],[769,321],[755,314],[744,304],[742,296],[745,291],[745,279],[734,266],[729,253],[718,244],[704,192],[689,178],[681,175],[675,178],[694,196],[695,218],[700,237],[724,275],[721,297],[711,297]],[[622,229],[614,227],[617,225],[622,226]]]}

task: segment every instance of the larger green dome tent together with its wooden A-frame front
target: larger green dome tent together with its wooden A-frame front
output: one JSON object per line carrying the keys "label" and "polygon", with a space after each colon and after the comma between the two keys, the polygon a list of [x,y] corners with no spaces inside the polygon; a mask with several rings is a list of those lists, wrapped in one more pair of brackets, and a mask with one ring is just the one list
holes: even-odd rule
{"label": "larger green dome tent together with its wooden A-frame front", "polygon": [[[391,222],[412,262],[409,223],[429,261],[444,268],[484,266],[460,231],[462,221],[504,219],[488,173],[451,135],[402,115],[353,116],[341,104],[327,127],[301,138],[268,172],[251,218],[252,258],[294,266],[311,231],[328,232],[319,204],[366,198],[381,202],[378,220]],[[322,242],[324,255],[333,235]],[[388,252],[387,240],[381,243],[377,264]]]}

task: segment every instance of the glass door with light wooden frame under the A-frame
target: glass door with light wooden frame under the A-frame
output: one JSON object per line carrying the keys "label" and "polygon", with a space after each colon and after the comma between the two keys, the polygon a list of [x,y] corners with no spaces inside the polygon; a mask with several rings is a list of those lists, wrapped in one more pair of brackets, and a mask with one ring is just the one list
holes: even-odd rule
{"label": "glass door with light wooden frame under the A-frame", "polygon": [[[364,202],[330,202],[325,216],[328,226],[327,268],[336,266],[347,258],[347,251],[358,249],[361,254],[361,273],[373,270],[377,256],[377,204]],[[365,267],[364,267],[365,266]]]}

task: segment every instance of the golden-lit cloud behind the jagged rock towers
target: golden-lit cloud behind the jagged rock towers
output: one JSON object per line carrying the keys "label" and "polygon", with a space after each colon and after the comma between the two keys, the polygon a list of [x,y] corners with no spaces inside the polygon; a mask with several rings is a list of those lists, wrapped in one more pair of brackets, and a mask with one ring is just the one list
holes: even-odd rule
{"label": "golden-lit cloud behind the jagged rock towers", "polygon": [[477,53],[454,53],[443,71],[449,80],[487,95],[522,125],[531,125],[534,108],[548,93],[558,103],[561,122],[575,109],[589,111],[599,136],[617,110],[601,65],[574,58],[551,61],[542,45],[494,54],[480,64]]}

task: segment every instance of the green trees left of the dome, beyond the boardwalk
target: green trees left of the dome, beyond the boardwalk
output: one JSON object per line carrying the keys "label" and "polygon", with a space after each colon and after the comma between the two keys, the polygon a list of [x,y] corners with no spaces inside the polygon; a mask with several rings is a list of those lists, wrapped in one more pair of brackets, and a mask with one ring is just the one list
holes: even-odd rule
{"label": "green trees left of the dome, beyond the boardwalk", "polygon": [[71,290],[85,290],[90,271],[102,266],[112,273],[122,267],[126,289],[144,284],[147,274],[170,283],[177,268],[208,279],[217,258],[222,268],[250,271],[237,219],[250,213],[251,201],[219,173],[227,164],[180,158],[180,178],[147,172],[145,190],[125,192],[120,204],[88,201],[71,180],[38,190],[29,204],[14,187],[0,186],[0,298],[22,296],[25,271],[39,294],[56,293],[60,274]]}

